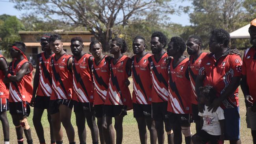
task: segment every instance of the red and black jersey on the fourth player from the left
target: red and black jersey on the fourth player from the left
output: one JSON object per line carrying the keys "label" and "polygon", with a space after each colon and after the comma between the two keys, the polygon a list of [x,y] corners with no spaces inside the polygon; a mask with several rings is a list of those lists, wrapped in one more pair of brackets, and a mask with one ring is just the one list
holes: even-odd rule
{"label": "red and black jersey on the fourth player from the left", "polygon": [[72,99],[73,78],[72,72],[67,67],[71,57],[72,55],[65,53],[59,59],[56,59],[56,55],[51,59],[53,91],[50,100]]}

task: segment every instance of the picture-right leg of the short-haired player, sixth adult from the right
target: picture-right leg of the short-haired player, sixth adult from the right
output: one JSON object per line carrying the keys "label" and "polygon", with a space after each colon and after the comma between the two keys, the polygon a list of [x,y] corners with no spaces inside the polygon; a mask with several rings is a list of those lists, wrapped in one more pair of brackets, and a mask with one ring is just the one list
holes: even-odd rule
{"label": "picture-right leg of the short-haired player, sixth adult from the right", "polygon": [[150,133],[150,144],[156,144],[157,132],[156,125],[153,118],[146,118],[147,127]]}

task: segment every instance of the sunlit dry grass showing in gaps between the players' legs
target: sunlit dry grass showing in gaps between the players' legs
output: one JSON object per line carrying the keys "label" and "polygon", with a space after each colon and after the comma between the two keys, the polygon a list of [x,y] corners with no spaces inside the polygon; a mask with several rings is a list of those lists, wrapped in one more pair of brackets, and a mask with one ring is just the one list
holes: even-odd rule
{"label": "sunlit dry grass showing in gaps between the players' legs", "polygon": [[[132,81],[132,79],[130,79],[130,81]],[[132,90],[132,82],[130,85],[130,90]],[[245,122],[246,109],[245,109],[245,103],[244,103],[244,98],[243,98],[241,89],[240,89],[239,98],[240,98],[240,116],[241,116],[241,129],[240,129],[241,141],[242,141],[242,144],[252,144],[252,137],[250,134],[250,129],[247,129],[246,122]],[[11,115],[9,114],[9,112],[7,112],[7,113],[8,113],[8,120],[10,123],[10,144],[15,144],[15,143],[17,143],[15,126],[12,124]],[[33,108],[31,109],[31,114],[28,117],[28,121],[29,121],[31,130],[32,130],[33,142],[34,142],[34,144],[39,144],[39,140],[37,138],[35,128],[33,126],[32,117],[33,117]],[[45,140],[46,140],[46,143],[48,144],[48,143],[50,143],[50,129],[49,129],[46,111],[43,113],[42,124],[43,124],[44,131],[45,131]],[[79,144],[79,138],[78,138],[78,134],[77,134],[78,132],[77,132],[74,113],[72,113],[72,124],[74,126],[75,133],[76,133],[76,142]],[[86,142],[87,142],[87,144],[91,144],[92,143],[91,132],[88,127],[86,127],[86,128],[87,128]],[[140,143],[139,130],[137,129],[137,122],[136,122],[135,118],[133,118],[133,111],[128,111],[128,115],[124,117],[123,131],[124,131],[123,144],[139,144]],[[194,123],[191,124],[191,131],[193,134],[195,134],[195,124]],[[26,143],[25,135],[23,137],[24,137],[24,142]],[[2,143],[4,141],[3,139],[4,138],[2,135],[2,125],[0,125],[0,143]],[[69,143],[68,139],[67,139],[67,135],[65,133],[65,130],[63,131],[63,142],[64,142],[64,144]],[[148,143],[150,143],[149,132],[148,132]],[[165,138],[165,143],[167,143],[166,138]],[[183,143],[185,144],[184,138],[183,138]],[[226,141],[225,144],[228,144],[228,142]]]}

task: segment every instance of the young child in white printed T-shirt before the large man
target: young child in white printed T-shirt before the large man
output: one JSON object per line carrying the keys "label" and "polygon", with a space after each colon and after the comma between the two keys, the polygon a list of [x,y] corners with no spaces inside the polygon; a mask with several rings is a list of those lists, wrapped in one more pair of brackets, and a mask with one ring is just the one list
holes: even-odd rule
{"label": "young child in white printed T-shirt before the large man", "polygon": [[[216,91],[212,86],[200,87],[199,101],[204,104],[204,112],[198,113],[203,124],[202,129],[193,135],[192,141],[194,144],[218,144],[218,141],[224,140],[224,111],[221,107],[217,108],[216,112],[208,111],[208,107],[213,102]],[[219,143],[220,144],[220,143]]]}

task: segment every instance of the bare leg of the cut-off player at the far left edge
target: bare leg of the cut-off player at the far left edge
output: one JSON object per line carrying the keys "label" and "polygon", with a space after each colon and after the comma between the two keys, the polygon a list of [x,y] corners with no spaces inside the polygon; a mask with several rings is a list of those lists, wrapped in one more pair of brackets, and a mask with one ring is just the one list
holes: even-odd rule
{"label": "bare leg of the cut-off player at the far left edge", "polygon": [[0,120],[2,122],[2,127],[3,127],[4,142],[9,142],[9,122],[7,119],[6,111],[0,112]]}

